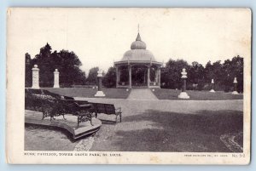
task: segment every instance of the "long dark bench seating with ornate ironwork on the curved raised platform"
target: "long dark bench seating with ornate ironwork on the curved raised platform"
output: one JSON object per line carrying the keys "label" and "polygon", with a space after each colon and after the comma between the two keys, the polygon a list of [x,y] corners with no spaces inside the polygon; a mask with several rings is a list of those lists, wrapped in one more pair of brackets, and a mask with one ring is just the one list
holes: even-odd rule
{"label": "long dark bench seating with ornate ironwork on the curved raised platform", "polygon": [[90,112],[92,107],[88,101],[74,100],[73,97],[54,94],[43,89],[26,89],[26,105],[39,105],[43,112],[42,120],[45,117],[50,117],[50,121],[55,120],[55,117],[61,116],[64,120],[65,114],[71,113],[78,117],[79,123],[90,121],[93,113]]}

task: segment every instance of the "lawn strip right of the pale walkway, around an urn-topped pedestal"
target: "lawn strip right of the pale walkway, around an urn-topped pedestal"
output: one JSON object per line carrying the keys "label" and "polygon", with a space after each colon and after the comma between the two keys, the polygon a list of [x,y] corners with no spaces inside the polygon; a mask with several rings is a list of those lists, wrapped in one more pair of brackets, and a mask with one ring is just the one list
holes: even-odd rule
{"label": "lawn strip right of the pale walkway, around an urn-topped pedestal", "polygon": [[[165,88],[154,88],[152,91],[159,100],[180,100],[177,98],[181,90],[165,89]],[[189,94],[189,100],[242,100],[242,94],[231,94],[224,92],[211,93],[208,91],[193,91],[187,90]]]}

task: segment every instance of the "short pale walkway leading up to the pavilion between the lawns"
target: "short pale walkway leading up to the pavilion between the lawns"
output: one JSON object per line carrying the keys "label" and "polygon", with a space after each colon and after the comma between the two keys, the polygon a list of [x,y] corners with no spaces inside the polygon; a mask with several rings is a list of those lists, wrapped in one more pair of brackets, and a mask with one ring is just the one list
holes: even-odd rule
{"label": "short pale walkway leading up to the pavilion between the lawns", "polygon": [[158,100],[151,89],[131,89],[128,100]]}

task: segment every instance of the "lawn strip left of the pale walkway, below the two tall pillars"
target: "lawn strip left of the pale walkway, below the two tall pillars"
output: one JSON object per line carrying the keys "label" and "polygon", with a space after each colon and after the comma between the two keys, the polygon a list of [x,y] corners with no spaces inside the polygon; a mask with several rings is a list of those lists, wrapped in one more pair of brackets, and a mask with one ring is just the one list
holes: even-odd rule
{"label": "lawn strip left of the pale walkway, below the two tall pillars", "polygon": [[[61,94],[71,97],[88,97],[94,98],[97,89],[96,88],[42,88],[49,90],[55,94]],[[130,94],[130,91],[126,91],[125,88],[102,88],[104,94],[106,94],[103,98],[108,99],[126,99]]]}

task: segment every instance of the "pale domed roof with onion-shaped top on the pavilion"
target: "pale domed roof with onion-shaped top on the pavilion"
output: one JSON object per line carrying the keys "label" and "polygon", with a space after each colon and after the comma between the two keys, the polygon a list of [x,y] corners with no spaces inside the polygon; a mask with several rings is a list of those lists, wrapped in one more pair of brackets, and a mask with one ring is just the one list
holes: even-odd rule
{"label": "pale domed roof with onion-shaped top on the pavilion", "polygon": [[131,50],[125,52],[122,60],[155,61],[154,55],[146,48],[146,43],[142,41],[140,33],[138,33],[136,41],[131,43]]}

